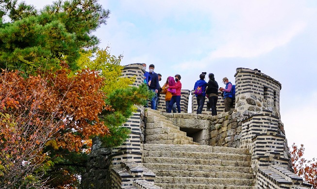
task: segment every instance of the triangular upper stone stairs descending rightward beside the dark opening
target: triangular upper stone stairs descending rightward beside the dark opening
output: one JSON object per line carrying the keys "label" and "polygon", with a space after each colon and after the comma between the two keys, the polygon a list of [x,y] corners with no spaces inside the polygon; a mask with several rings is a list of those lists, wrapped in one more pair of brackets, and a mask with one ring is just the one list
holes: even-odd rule
{"label": "triangular upper stone stairs descending rightward beside the dark opening", "polygon": [[149,144],[194,144],[193,138],[187,137],[186,132],[173,125],[160,111],[147,109],[147,125],[145,129],[145,143]]}

